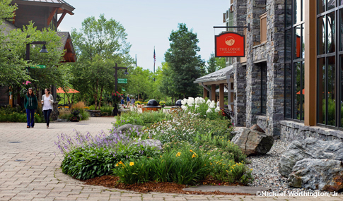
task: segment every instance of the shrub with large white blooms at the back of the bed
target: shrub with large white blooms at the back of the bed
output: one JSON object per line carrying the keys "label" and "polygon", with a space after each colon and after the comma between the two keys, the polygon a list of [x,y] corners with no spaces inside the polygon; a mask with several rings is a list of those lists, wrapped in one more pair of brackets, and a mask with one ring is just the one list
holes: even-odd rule
{"label": "shrub with large white blooms at the back of the bed", "polygon": [[222,118],[222,116],[218,114],[220,111],[219,106],[216,107],[216,103],[209,99],[206,101],[202,97],[196,97],[195,99],[189,97],[188,99],[183,99],[181,104],[183,110],[199,114],[199,118],[209,118],[211,120]]}

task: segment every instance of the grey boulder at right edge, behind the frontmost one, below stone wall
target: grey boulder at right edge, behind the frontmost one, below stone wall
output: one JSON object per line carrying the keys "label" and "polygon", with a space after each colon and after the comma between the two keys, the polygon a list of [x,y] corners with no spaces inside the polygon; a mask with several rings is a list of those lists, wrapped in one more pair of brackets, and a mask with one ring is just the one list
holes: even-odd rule
{"label": "grey boulder at right edge, behind the frontmost one, below stone wall", "polygon": [[279,173],[288,177],[296,162],[302,159],[334,159],[343,161],[343,143],[306,138],[295,140],[287,147],[279,162]]}

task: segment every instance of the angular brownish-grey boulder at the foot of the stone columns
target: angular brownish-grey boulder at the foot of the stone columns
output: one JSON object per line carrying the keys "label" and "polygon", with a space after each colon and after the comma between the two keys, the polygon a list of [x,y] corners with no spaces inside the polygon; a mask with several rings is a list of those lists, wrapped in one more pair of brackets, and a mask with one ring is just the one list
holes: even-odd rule
{"label": "angular brownish-grey boulder at the foot of the stone columns", "polygon": [[240,150],[247,156],[262,155],[269,152],[274,144],[274,138],[257,130],[240,128],[238,133],[231,140],[240,147]]}

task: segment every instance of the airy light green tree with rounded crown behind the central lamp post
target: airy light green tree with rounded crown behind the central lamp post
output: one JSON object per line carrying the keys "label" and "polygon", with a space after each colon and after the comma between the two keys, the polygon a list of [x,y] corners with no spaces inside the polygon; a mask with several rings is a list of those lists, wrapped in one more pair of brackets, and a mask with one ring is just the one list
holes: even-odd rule
{"label": "airy light green tree with rounded crown behind the central lamp post", "polygon": [[[112,18],[106,20],[102,14],[98,20],[93,16],[83,20],[79,32],[71,30],[71,38],[78,56],[73,66],[73,85],[80,92],[91,95],[95,109],[100,109],[103,92],[115,88],[115,69],[112,67],[115,63],[129,66],[133,62],[129,56],[131,45],[126,41],[127,33],[119,22]],[[118,74],[123,75],[123,72],[118,71]]]}

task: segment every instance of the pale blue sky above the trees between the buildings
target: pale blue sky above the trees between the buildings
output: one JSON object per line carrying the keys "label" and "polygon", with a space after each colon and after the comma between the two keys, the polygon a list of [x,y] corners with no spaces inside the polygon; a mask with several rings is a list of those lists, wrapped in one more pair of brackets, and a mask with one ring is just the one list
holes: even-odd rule
{"label": "pale blue sky above the trees between the buildings", "polygon": [[223,30],[223,13],[230,0],[122,0],[91,1],[65,0],[74,6],[74,15],[67,14],[58,30],[80,30],[85,18],[104,14],[106,19],[119,21],[127,32],[127,42],[132,44],[129,54],[137,58],[137,66],[153,71],[153,47],[156,51],[156,69],[164,61],[165,51],[170,47],[169,36],[178,30],[178,23],[197,33],[199,55],[207,61],[214,52],[214,35]]}

